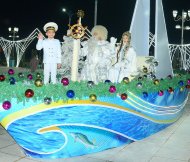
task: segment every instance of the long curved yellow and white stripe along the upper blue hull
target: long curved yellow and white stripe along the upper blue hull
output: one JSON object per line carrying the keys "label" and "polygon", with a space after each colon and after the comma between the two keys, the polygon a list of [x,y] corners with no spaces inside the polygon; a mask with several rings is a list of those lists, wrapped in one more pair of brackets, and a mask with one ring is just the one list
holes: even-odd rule
{"label": "long curved yellow and white stripe along the upper blue hull", "polygon": [[48,110],[48,109],[54,109],[54,108],[60,108],[60,106],[70,106],[70,105],[73,105],[73,106],[76,106],[76,105],[97,105],[97,106],[107,106],[108,108],[111,108],[111,109],[119,109],[119,110],[122,110],[122,111],[126,111],[126,112],[130,112],[132,114],[136,114],[138,116],[141,116],[143,118],[146,118],[148,120],[151,120],[153,122],[156,122],[156,123],[172,123],[174,121],[176,121],[177,119],[170,119],[170,120],[157,120],[157,119],[154,119],[152,117],[149,117],[147,115],[144,115],[144,114],[141,114],[139,112],[136,112],[134,110],[131,110],[129,108],[125,108],[125,107],[122,107],[122,106],[118,106],[116,104],[110,104],[110,103],[106,103],[106,102],[101,102],[101,101],[96,101],[96,102],[92,102],[90,100],[68,100],[68,101],[57,101],[57,102],[52,102],[51,104],[49,105],[46,105],[44,103],[41,103],[41,104],[38,104],[38,105],[35,105],[35,106],[31,106],[29,108],[26,108],[26,109],[22,109],[22,110],[19,110],[17,112],[14,112],[12,114],[9,114],[7,115],[5,118],[2,119],[2,126],[4,128],[7,128],[9,124],[11,124],[12,122],[14,122],[15,120],[18,120],[20,118],[23,118],[23,117],[26,117],[26,116],[29,116],[29,115],[33,115],[33,114],[36,114],[36,113],[39,113],[39,112],[43,112],[45,110]]}

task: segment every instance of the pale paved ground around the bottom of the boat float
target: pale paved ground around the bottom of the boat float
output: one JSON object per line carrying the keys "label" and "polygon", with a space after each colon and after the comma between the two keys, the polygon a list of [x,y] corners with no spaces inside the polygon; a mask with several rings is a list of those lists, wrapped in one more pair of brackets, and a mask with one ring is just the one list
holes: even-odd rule
{"label": "pale paved ground around the bottom of the boat float", "polygon": [[0,126],[0,162],[190,162],[190,99],[172,126],[144,140],[86,156],[39,160],[26,157]]}

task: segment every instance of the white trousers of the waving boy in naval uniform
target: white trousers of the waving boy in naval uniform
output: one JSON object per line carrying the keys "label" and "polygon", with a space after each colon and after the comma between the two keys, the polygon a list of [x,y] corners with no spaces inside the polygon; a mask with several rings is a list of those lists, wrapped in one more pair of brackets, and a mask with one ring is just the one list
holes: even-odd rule
{"label": "white trousers of the waving boy in naval uniform", "polygon": [[44,63],[44,84],[51,83],[56,84],[57,64],[56,63]]}

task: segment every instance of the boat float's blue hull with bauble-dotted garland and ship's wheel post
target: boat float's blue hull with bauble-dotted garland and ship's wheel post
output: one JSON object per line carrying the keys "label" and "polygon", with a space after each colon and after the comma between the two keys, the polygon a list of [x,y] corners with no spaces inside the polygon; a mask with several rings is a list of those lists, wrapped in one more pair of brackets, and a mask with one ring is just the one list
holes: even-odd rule
{"label": "boat float's blue hull with bauble-dotted garland and ship's wheel post", "polygon": [[[142,67],[138,76],[121,83],[79,82],[77,37],[84,28],[79,21],[71,29],[76,36],[71,79],[58,75],[57,84],[43,85],[39,72],[10,68],[0,74],[0,123],[27,156],[55,159],[100,152],[144,139],[181,117],[188,73],[161,78],[156,69]],[[160,64],[152,57],[146,61]]]}

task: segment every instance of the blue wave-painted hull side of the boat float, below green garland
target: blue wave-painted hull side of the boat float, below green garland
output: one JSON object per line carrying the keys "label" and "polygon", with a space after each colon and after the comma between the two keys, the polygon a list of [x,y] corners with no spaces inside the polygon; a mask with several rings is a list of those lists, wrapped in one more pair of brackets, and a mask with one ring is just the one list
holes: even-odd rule
{"label": "blue wave-painted hull side of the boat float, below green garland", "polygon": [[146,138],[174,123],[183,113],[188,89],[144,98],[120,96],[52,102],[15,102],[0,109],[2,126],[27,156],[74,157],[119,147]]}

